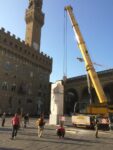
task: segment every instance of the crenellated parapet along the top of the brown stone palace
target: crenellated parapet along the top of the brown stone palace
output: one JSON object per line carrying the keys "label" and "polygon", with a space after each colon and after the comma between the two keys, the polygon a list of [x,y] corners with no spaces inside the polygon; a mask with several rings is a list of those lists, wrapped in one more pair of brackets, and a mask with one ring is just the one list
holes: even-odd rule
{"label": "crenellated parapet along the top of the brown stone palace", "polygon": [[[34,59],[33,61],[35,61],[35,63],[38,65],[40,64],[40,66],[45,65],[44,62],[46,62],[47,64],[51,64],[52,65],[52,59],[50,57],[48,57],[47,55],[45,55],[43,52],[39,53],[38,51],[34,50],[34,48],[30,47],[28,44],[25,43],[25,41],[21,41],[20,38],[16,37],[15,34],[12,34],[9,31],[5,31],[4,28],[2,28],[0,30],[0,35],[1,36],[1,41],[0,44],[4,45],[3,47],[8,49],[11,49],[11,51],[15,54],[18,53],[18,55],[23,55],[23,57],[28,58],[30,60]],[[10,47],[9,47],[10,46]],[[20,49],[21,49],[21,53],[20,53]],[[38,59],[33,58],[33,55],[38,56],[40,61]],[[45,65],[44,67],[45,69],[49,69],[50,66]],[[49,71],[51,72],[51,69],[49,69]]]}

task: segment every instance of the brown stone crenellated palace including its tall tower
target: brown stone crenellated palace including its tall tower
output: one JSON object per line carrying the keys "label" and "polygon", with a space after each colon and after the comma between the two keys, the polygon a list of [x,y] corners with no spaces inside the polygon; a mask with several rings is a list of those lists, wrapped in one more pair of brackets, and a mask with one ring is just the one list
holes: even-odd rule
{"label": "brown stone crenellated palace including its tall tower", "polygon": [[42,0],[29,0],[26,38],[0,29],[0,113],[49,112],[52,58],[40,52]]}

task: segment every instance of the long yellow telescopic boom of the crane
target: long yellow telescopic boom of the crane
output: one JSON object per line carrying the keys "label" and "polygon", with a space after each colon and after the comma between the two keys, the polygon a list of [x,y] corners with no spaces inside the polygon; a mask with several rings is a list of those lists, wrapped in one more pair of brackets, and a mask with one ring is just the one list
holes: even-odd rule
{"label": "long yellow telescopic boom of the crane", "polygon": [[74,30],[74,33],[75,33],[75,37],[76,37],[76,40],[77,40],[77,43],[78,43],[78,47],[82,53],[82,57],[84,59],[84,62],[85,62],[85,67],[86,67],[86,70],[88,72],[88,75],[90,76],[90,79],[91,79],[91,82],[95,88],[95,91],[96,91],[96,94],[98,96],[98,99],[99,99],[99,102],[100,103],[106,103],[107,102],[107,98],[104,94],[104,91],[103,91],[103,88],[100,84],[100,81],[99,81],[99,78],[98,78],[98,75],[94,69],[94,66],[93,66],[93,63],[91,61],[91,58],[88,54],[88,50],[86,48],[86,45],[85,45],[85,42],[84,42],[84,39],[82,37],[82,34],[80,32],[80,29],[79,29],[79,26],[78,26],[78,23],[74,17],[74,14],[73,14],[73,10],[72,10],[72,7],[71,6],[67,6],[65,7],[65,10],[68,12],[68,15],[70,17],[70,20],[71,20],[71,24],[72,24],[72,27],[73,27],[73,30]]}

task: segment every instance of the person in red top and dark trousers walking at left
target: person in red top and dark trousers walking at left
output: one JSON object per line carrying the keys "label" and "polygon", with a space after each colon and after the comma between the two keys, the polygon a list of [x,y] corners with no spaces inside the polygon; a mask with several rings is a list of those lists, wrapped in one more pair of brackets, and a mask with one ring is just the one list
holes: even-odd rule
{"label": "person in red top and dark trousers walking at left", "polygon": [[20,120],[18,114],[16,113],[12,118],[12,140],[15,139],[15,137],[17,136],[19,125],[20,125]]}

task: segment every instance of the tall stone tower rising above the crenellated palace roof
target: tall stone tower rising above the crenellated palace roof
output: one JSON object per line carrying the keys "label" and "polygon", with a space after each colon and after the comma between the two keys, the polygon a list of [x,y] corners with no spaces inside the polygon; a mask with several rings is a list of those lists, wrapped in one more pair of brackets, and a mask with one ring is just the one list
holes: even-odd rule
{"label": "tall stone tower rising above the crenellated palace roof", "polygon": [[42,0],[29,0],[26,10],[26,37],[25,43],[40,51],[41,28],[44,24]]}

